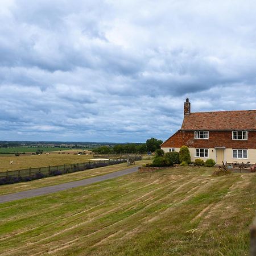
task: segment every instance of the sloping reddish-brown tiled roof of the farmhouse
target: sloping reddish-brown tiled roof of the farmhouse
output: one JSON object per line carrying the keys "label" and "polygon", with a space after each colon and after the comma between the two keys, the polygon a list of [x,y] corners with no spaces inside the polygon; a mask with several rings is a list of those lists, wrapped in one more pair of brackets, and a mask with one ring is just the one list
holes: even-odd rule
{"label": "sloping reddish-brown tiled roof of the farmhouse", "polygon": [[181,130],[256,130],[256,110],[190,113]]}

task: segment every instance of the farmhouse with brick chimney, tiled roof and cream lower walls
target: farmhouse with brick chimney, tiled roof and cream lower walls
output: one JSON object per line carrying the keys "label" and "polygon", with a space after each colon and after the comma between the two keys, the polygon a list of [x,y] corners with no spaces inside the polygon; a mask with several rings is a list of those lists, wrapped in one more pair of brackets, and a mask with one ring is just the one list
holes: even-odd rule
{"label": "farmhouse with brick chimney, tiled roof and cream lower walls", "polygon": [[217,164],[256,163],[256,110],[191,113],[187,98],[181,129],[161,148],[179,151],[183,145],[188,146],[192,162],[212,158]]}

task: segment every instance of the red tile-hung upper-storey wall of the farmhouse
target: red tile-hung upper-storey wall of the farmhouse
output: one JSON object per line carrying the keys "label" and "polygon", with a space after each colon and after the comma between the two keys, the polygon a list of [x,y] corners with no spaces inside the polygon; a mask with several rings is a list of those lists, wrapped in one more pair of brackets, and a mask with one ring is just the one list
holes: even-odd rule
{"label": "red tile-hung upper-storey wall of the farmhouse", "polygon": [[232,139],[232,131],[209,131],[209,139],[195,139],[194,131],[177,131],[162,144],[162,147],[226,147],[226,148],[256,148],[256,131],[248,131],[247,141]]}

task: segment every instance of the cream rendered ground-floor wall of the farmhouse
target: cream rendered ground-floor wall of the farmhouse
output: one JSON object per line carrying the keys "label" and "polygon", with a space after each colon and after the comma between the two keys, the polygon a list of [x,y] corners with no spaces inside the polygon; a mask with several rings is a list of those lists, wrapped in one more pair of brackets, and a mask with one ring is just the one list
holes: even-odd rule
{"label": "cream rendered ground-floor wall of the farmhouse", "polygon": [[[170,152],[170,147],[162,147],[162,150],[164,152]],[[180,148],[179,147],[175,147],[175,151],[179,152]],[[189,153],[191,156],[191,161],[194,162],[195,159],[197,159],[196,155],[196,149],[195,147],[189,147]],[[200,158],[203,159],[204,162],[209,159],[212,158],[215,162],[216,162],[216,149],[215,148],[209,148],[209,157],[208,158]],[[224,150],[224,161],[227,163],[233,163],[234,161],[237,161],[238,163],[247,163],[250,162],[252,163],[256,163],[256,149],[254,148],[249,148],[247,151],[247,159],[244,158],[233,158],[233,151],[232,148],[225,148]]]}

